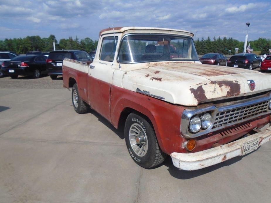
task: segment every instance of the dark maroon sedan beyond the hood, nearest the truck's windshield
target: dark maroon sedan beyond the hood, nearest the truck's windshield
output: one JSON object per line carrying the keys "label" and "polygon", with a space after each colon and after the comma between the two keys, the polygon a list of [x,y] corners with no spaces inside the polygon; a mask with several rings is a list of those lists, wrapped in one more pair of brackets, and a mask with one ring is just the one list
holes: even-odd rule
{"label": "dark maroon sedan beyond the hood, nearest the truck's windshield", "polygon": [[223,54],[219,53],[209,53],[205,54],[200,58],[202,64],[217,65],[217,66],[227,66],[228,59]]}

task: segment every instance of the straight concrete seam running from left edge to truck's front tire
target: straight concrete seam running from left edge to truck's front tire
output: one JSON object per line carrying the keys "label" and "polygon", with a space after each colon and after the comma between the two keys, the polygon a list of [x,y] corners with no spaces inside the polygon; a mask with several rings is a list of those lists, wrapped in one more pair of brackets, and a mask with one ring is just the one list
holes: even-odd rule
{"label": "straight concrete seam running from left edge to truck's front tire", "polygon": [[71,141],[58,141],[58,140],[31,140],[31,139],[19,139],[19,138],[7,138],[7,137],[0,137],[0,140],[14,140],[14,141],[30,141],[30,142],[51,142],[51,143],[60,143],[60,144],[105,144],[105,145],[122,145],[122,143],[106,143],[106,142],[71,142]]}

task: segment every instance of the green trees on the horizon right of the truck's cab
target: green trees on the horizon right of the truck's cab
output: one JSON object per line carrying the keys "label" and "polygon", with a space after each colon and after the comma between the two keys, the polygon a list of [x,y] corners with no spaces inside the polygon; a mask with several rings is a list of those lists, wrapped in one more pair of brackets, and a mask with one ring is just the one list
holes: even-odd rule
{"label": "green trees on the horizon right of the truck's cab", "polygon": [[[201,40],[197,39],[195,44],[197,54],[229,54],[229,50],[231,50],[231,54],[235,54],[235,48],[238,48],[238,53],[242,53],[244,48],[244,42],[240,42],[232,37],[223,37],[222,39],[220,37],[214,37],[213,40],[211,40],[210,37],[207,37],[207,39],[202,37]],[[258,51],[259,54],[268,54],[269,49],[271,49],[271,39],[259,38],[254,41],[249,41],[248,44],[250,44],[250,48],[253,49],[253,51]]]}

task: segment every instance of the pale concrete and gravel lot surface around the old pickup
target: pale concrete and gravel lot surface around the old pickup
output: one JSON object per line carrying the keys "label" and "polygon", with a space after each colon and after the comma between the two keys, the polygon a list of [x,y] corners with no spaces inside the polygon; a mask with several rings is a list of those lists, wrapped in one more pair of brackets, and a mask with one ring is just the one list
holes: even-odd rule
{"label": "pale concrete and gravel lot surface around the old pickup", "polygon": [[0,78],[0,120],[0,202],[270,202],[271,142],[198,171],[170,158],[147,170],[121,131],[77,114],[50,77]]}

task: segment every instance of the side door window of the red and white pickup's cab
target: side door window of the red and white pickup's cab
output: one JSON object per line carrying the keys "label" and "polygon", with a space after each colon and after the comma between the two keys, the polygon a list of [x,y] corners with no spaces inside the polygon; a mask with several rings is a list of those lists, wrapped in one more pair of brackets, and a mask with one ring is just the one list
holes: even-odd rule
{"label": "side door window of the red and white pickup's cab", "polygon": [[[118,37],[116,37],[117,43]],[[116,45],[114,36],[104,37],[100,51],[100,60],[112,62],[115,57]]]}

